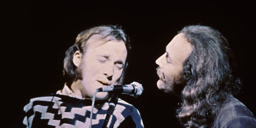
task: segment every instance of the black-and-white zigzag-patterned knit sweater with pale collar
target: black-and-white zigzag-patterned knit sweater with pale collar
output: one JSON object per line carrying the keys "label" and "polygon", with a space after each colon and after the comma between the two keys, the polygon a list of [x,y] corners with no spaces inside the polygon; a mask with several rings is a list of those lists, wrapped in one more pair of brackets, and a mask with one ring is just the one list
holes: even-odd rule
{"label": "black-and-white zigzag-patterned knit sweater with pale collar", "polygon": [[[108,100],[96,100],[92,128],[101,128],[108,111]],[[24,128],[89,128],[92,100],[52,94],[30,99],[24,107]],[[144,128],[138,110],[118,99],[108,128]]]}

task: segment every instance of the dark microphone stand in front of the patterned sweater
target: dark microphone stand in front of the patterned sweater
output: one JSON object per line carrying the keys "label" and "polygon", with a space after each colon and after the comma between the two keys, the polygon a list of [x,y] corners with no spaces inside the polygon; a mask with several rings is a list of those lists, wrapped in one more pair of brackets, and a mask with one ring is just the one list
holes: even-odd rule
{"label": "dark microphone stand in front of the patterned sweater", "polygon": [[102,125],[102,128],[107,128],[109,118],[113,114],[113,110],[116,107],[117,100],[118,100],[118,95],[112,94],[110,98],[110,102],[108,103],[109,108],[108,108],[106,118],[104,120],[104,124]]}

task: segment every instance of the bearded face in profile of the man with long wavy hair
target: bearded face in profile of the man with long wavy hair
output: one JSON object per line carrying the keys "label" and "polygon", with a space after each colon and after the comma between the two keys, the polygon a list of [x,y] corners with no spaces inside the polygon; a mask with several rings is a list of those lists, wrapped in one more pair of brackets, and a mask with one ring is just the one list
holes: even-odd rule
{"label": "bearded face in profile of the man with long wavy hair", "polygon": [[192,52],[192,44],[183,33],[176,35],[166,46],[166,52],[156,60],[159,80],[157,87],[166,93],[179,96],[183,63]]}

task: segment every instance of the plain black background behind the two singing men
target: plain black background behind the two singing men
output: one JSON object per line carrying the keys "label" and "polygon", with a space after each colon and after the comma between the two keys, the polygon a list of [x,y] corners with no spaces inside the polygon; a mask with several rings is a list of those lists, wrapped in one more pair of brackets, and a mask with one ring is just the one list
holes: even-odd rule
{"label": "plain black background behind the two singing men", "polygon": [[[234,50],[243,92],[237,98],[256,115],[256,2],[185,1],[0,1],[2,106],[6,123],[18,128],[30,98],[63,88],[63,59],[76,35],[94,26],[119,24],[132,50],[125,84],[144,87],[138,98],[121,96],[138,108],[146,128],[178,127],[179,99],[158,90],[155,60],[184,26],[201,24],[219,30]],[[10,121],[10,122],[9,122]],[[15,123],[14,123],[15,122]]]}

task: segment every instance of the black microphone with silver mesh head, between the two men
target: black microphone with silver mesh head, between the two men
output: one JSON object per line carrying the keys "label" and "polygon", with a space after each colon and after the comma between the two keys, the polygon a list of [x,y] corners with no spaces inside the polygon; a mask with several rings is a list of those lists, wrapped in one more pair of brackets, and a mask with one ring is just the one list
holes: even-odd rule
{"label": "black microphone with silver mesh head, between the two men", "polygon": [[143,92],[142,84],[138,82],[132,82],[125,85],[105,86],[97,89],[98,92],[109,92],[114,94],[130,94],[130,96],[137,97]]}

